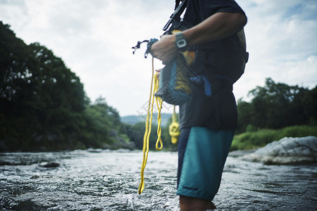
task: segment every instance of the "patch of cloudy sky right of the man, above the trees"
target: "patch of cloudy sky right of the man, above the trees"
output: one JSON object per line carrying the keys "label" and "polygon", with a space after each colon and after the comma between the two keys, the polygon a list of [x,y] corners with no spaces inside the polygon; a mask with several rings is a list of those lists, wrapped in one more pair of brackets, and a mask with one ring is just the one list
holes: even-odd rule
{"label": "patch of cloudy sky right of the man, above the trees", "polygon": [[317,84],[316,1],[238,1],[248,16],[250,53],[245,74],[235,85],[238,98],[264,79],[313,88]]}

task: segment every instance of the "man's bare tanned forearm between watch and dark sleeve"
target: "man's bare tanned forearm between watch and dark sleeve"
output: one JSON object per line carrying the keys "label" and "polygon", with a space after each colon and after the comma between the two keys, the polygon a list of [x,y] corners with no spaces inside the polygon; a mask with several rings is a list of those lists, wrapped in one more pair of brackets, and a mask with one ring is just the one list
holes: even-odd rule
{"label": "man's bare tanned forearm between watch and dark sleeve", "polygon": [[247,17],[242,13],[216,13],[182,34],[189,46],[195,46],[229,37],[246,24]]}

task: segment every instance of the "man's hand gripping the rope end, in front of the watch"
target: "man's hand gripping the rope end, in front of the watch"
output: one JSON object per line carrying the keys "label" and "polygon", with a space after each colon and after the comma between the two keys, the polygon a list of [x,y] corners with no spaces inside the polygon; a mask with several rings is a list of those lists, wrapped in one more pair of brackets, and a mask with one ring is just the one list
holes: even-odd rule
{"label": "man's hand gripping the rope end, in front of the watch", "polygon": [[163,65],[175,58],[178,48],[175,44],[175,34],[163,35],[151,46],[151,55],[162,61]]}

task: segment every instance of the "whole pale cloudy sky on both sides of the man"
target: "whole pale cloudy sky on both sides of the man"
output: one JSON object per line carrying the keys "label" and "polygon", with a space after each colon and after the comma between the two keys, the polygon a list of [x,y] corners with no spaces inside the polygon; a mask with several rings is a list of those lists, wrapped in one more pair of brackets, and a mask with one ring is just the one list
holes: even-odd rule
{"label": "whole pale cloudy sky on both sides of the man", "polygon": [[[236,99],[275,82],[312,89],[317,84],[317,1],[237,0],[247,14],[249,62],[234,84]],[[80,77],[87,96],[99,96],[120,116],[147,112],[151,56],[137,41],[159,38],[173,0],[0,0],[0,20],[26,44],[39,42]],[[1,34],[0,34],[1,36]],[[154,60],[155,68],[162,68]],[[162,113],[172,113],[164,104]]]}

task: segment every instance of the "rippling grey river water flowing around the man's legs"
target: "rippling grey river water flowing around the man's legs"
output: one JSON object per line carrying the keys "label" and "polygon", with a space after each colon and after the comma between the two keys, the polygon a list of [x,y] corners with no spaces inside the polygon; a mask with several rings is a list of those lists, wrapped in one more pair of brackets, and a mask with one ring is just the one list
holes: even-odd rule
{"label": "rippling grey river water flowing around the man's legs", "polygon": [[[179,210],[177,153],[149,153],[138,195],[141,163],[142,151],[0,153],[0,210]],[[229,156],[214,203],[220,210],[317,210],[316,165]]]}

